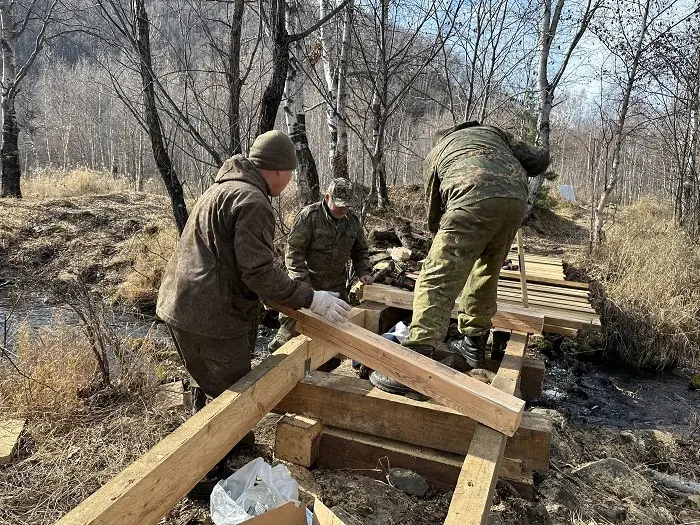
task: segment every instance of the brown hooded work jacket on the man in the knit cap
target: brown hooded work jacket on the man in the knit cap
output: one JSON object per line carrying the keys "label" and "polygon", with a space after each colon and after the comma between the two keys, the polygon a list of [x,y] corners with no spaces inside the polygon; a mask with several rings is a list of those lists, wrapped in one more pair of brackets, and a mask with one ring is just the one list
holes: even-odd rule
{"label": "brown hooded work jacket on the man in the knit cap", "polygon": [[227,339],[259,300],[289,308],[311,305],[313,289],[275,263],[270,188],[257,168],[235,155],[192,209],[163,275],[157,313],[190,333]]}

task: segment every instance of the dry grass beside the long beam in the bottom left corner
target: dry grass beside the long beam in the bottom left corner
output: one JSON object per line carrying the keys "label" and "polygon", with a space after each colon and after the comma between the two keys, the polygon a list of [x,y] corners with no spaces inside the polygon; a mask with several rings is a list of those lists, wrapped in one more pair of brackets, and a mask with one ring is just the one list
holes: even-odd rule
{"label": "dry grass beside the long beam in the bottom left corner", "polygon": [[95,390],[86,389],[97,366],[78,327],[20,331],[14,364],[0,361],[0,419],[27,427],[0,469],[0,524],[54,523],[184,421],[184,410],[154,403],[157,345],[128,343],[122,363],[131,365]]}

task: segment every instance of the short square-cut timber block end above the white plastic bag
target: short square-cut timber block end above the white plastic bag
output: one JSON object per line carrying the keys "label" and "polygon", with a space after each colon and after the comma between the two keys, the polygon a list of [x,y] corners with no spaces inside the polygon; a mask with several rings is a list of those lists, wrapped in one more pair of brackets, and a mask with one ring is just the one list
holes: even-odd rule
{"label": "short square-cut timber block end above the white plastic bag", "polygon": [[275,457],[311,468],[318,459],[323,423],[297,414],[285,414],[275,426]]}

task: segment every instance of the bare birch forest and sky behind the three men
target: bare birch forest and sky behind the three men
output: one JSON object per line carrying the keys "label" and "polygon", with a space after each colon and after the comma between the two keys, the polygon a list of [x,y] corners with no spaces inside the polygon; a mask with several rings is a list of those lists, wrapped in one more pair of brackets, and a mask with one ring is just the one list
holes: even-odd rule
{"label": "bare birch forest and sky behind the three men", "polygon": [[[2,193],[87,167],[185,197],[285,129],[294,198],[333,177],[388,204],[463,120],[549,146],[591,204],[652,196],[700,235],[700,8],[683,0],[0,1]],[[21,175],[21,177],[20,177]],[[547,186],[531,184],[530,205]],[[163,184],[161,184],[161,182]],[[151,184],[148,184],[148,183]],[[611,206],[612,205],[612,206]],[[612,210],[612,212],[611,212]]]}

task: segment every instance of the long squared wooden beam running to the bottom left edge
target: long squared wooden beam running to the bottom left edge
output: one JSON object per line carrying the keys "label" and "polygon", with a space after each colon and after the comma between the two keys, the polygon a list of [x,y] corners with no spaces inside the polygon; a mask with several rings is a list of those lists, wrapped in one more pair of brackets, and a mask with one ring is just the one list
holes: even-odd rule
{"label": "long squared wooden beam running to the bottom left edge", "polygon": [[298,336],[58,521],[156,524],[311,369],[337,349]]}

